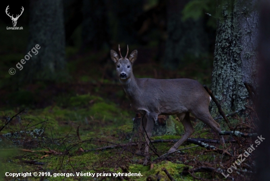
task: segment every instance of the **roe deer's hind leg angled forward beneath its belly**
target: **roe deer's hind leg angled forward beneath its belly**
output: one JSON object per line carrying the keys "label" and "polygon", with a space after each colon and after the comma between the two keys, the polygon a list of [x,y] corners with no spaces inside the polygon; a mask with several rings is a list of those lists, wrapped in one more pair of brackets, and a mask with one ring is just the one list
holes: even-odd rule
{"label": "roe deer's hind leg angled forward beneath its belly", "polygon": [[184,143],[189,138],[189,136],[191,136],[194,133],[194,128],[193,128],[191,121],[189,119],[189,112],[178,114],[177,117],[184,125],[185,134],[182,136],[182,138],[180,140],[178,140],[178,142],[176,142],[170,148],[170,150],[168,152],[176,151],[178,149],[178,147],[180,145],[182,145],[182,143]]}

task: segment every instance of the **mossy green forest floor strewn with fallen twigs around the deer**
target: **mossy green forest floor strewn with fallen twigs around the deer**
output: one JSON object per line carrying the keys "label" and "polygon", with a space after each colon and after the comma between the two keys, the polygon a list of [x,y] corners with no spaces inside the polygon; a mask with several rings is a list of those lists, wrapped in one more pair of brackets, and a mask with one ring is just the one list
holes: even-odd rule
{"label": "mossy green forest floor strewn with fallen twigs around the deer", "polygon": [[[135,77],[185,77],[210,87],[211,57],[190,60],[178,70],[168,71],[155,61],[156,51],[147,47],[138,49],[138,60],[133,68]],[[179,149],[186,150],[161,156],[174,144],[172,140],[180,139],[183,134],[183,127],[177,123],[175,125],[181,127],[178,134],[167,133],[151,138],[153,144],[150,146],[155,152],[150,151],[148,165],[143,166],[144,157],[136,155],[136,146],[131,145],[136,144],[137,139],[133,130],[135,112],[118,83],[108,52],[83,55],[76,52],[76,49],[67,48],[70,75],[67,80],[54,84],[36,81],[19,88],[11,82],[8,69],[14,67],[23,54],[0,55],[3,60],[0,62],[0,129],[11,120],[0,130],[0,178],[6,172],[37,172],[41,175],[4,177],[4,180],[169,181],[170,176],[175,181],[252,180],[252,156],[246,157],[240,165],[234,164],[240,159],[238,155],[254,143],[252,138],[224,136],[229,141],[226,147],[222,147],[212,140],[217,139],[217,135],[210,128],[197,128],[191,138],[212,140],[208,144],[221,152],[185,142]],[[171,118],[177,120],[176,117]],[[242,120],[238,115],[230,119],[254,127],[252,120]],[[195,126],[196,122],[192,123]],[[236,130],[249,133],[252,132],[249,127],[241,125]],[[109,146],[112,148],[104,149]],[[229,168],[232,173],[225,178],[222,173],[227,176]],[[113,173],[130,172],[140,175],[112,176]],[[54,177],[57,173],[73,173],[74,176]],[[77,176],[79,173],[96,175]]]}

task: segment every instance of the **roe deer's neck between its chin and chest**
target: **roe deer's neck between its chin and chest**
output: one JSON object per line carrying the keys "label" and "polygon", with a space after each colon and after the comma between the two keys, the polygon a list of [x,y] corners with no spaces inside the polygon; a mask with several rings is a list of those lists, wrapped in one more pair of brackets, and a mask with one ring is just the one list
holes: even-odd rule
{"label": "roe deer's neck between its chin and chest", "polygon": [[119,79],[119,81],[122,84],[127,96],[132,101],[139,91],[135,76],[132,73],[131,77],[127,81],[122,81],[121,79]]}

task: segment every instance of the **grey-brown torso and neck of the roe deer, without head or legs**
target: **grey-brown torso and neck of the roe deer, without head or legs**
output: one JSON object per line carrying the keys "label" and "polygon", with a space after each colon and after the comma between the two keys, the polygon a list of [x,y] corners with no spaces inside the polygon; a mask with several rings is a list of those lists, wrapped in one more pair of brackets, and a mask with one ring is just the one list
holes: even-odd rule
{"label": "grey-brown torso and neck of the roe deer, without head or legs", "polygon": [[176,115],[192,112],[200,103],[210,103],[210,95],[200,83],[192,79],[132,77],[128,84],[123,84],[123,88],[132,108],[138,112],[145,110],[157,115]]}

